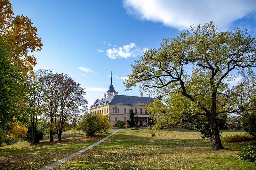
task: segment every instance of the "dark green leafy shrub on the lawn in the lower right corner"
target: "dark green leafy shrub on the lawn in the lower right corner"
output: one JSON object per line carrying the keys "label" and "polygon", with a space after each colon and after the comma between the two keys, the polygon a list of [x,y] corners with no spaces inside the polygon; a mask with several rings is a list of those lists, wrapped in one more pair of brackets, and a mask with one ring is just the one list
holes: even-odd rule
{"label": "dark green leafy shrub on the lawn in the lower right corner", "polygon": [[256,161],[256,147],[255,146],[248,146],[244,148],[238,154],[239,159],[244,159],[248,162]]}

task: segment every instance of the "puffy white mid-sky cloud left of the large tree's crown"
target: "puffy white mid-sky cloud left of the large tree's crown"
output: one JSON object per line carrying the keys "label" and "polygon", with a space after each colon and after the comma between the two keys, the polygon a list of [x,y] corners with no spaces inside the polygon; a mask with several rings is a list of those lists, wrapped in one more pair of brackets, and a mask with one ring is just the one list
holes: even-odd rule
{"label": "puffy white mid-sky cloud left of the large tree's crown", "polygon": [[130,43],[128,45],[124,45],[123,47],[113,47],[109,48],[106,52],[107,56],[110,59],[118,58],[128,58],[128,57],[137,57],[144,53],[144,50],[147,48],[141,49],[140,47],[136,46],[134,43]]}

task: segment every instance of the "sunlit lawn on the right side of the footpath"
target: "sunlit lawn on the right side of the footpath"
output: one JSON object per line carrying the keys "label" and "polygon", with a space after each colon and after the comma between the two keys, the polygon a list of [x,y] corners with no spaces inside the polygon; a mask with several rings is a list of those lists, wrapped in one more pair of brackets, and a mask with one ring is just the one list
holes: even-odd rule
{"label": "sunlit lawn on the right side of the footpath", "polygon": [[[223,131],[222,135],[244,133]],[[256,169],[236,154],[254,142],[223,143],[213,151],[211,143],[194,130],[161,131],[155,138],[145,130],[119,131],[111,140],[84,152],[55,169]]]}

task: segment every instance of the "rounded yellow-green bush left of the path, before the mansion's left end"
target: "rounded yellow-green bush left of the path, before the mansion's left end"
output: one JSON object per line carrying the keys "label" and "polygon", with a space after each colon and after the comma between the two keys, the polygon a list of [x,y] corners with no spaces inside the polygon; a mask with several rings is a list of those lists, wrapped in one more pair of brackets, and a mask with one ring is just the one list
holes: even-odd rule
{"label": "rounded yellow-green bush left of the path, before the mansion's left end", "polygon": [[89,113],[82,117],[81,122],[74,129],[83,131],[87,136],[93,136],[95,133],[102,133],[110,127],[106,116]]}

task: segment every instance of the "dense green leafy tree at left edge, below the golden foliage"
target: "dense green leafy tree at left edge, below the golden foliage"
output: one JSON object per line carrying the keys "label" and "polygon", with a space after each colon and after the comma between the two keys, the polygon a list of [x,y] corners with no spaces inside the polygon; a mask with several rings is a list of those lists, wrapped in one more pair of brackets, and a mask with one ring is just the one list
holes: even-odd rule
{"label": "dense green leafy tree at left edge, below the golden foliage", "polygon": [[27,122],[27,86],[22,71],[11,62],[11,52],[0,40],[0,141],[12,130],[14,120]]}

